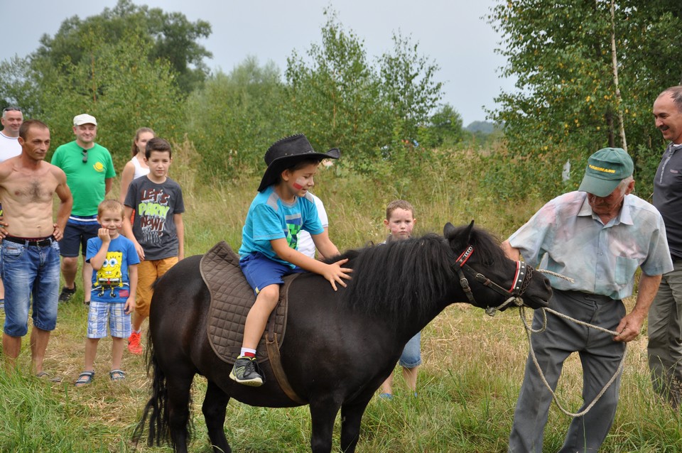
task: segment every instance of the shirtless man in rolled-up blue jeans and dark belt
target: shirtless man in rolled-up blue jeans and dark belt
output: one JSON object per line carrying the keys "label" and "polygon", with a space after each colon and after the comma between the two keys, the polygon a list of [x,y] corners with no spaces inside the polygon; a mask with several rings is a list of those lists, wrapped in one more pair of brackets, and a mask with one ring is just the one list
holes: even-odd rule
{"label": "shirtless man in rolled-up blue jeans and dark belt", "polygon": [[[50,332],[57,324],[59,246],[73,199],[66,175],[44,161],[50,147],[50,130],[28,120],[19,129],[21,154],[0,163],[0,200],[6,226],[1,231],[5,283],[5,324],[2,349],[13,368],[28,332],[28,309],[33,293],[31,369],[45,376],[43,358]],[[60,200],[53,221],[53,198]]]}

